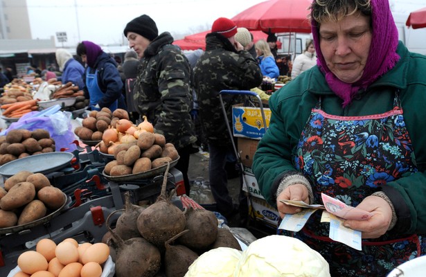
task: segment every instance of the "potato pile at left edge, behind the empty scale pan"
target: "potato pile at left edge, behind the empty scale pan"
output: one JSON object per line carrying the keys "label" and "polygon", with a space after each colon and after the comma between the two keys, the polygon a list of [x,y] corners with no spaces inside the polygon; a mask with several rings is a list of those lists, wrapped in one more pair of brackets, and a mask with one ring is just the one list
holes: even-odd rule
{"label": "potato pile at left edge, behind the empty scale pan", "polygon": [[55,152],[55,140],[45,129],[12,129],[0,136],[0,166],[30,155]]}

